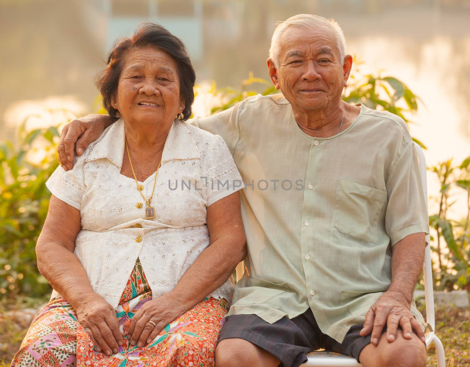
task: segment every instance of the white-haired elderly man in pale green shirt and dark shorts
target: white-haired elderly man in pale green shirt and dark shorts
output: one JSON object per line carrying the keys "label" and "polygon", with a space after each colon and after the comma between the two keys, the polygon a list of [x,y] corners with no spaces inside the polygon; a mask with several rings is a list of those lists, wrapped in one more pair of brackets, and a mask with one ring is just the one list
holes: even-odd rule
{"label": "white-haired elderly man in pale green shirt and dark shorts", "polygon": [[[426,364],[412,300],[429,229],[416,152],[399,117],[341,100],[351,66],[335,21],[293,16],[267,59],[282,94],[192,122],[224,138],[246,186],[248,257],[217,366],[299,366],[318,348],[366,367]],[[63,166],[109,124],[68,124]]]}

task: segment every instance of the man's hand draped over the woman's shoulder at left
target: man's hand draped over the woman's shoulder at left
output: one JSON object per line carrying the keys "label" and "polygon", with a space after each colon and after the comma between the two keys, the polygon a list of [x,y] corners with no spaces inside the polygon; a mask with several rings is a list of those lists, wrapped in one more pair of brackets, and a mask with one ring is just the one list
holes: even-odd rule
{"label": "man's hand draped over the woman's shoulder at left", "polygon": [[68,171],[73,168],[74,154],[82,155],[88,144],[98,139],[111,122],[108,115],[94,113],[65,125],[57,147],[57,155],[63,169]]}

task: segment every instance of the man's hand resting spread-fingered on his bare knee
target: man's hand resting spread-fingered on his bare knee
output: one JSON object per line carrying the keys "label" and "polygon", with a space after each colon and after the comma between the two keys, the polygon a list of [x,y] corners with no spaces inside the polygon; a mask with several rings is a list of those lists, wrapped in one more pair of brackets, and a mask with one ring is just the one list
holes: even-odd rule
{"label": "man's hand resting spread-fingered on his bare knee", "polygon": [[410,302],[398,291],[385,292],[372,305],[366,314],[366,321],[360,335],[366,336],[372,332],[371,343],[377,345],[385,325],[389,343],[395,340],[399,326],[403,330],[405,339],[411,339],[411,333],[415,330],[423,343],[425,341],[423,328],[410,311]]}

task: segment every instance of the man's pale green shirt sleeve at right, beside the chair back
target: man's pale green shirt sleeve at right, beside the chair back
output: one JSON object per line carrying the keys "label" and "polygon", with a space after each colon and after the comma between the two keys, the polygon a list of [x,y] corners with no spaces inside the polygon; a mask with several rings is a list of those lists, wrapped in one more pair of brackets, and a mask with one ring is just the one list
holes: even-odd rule
{"label": "man's pale green shirt sleeve at right, beside the chair back", "polygon": [[418,156],[411,141],[401,152],[386,182],[388,204],[385,229],[392,246],[412,233],[429,234]]}

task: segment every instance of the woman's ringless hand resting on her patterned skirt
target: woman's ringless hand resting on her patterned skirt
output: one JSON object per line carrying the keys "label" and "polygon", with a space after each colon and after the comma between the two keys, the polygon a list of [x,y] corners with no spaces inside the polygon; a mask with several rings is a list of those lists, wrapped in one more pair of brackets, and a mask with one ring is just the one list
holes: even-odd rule
{"label": "woman's ringless hand resting on her patterned skirt", "polygon": [[98,351],[110,356],[118,353],[124,337],[119,330],[116,311],[100,295],[74,307],[78,322],[85,328]]}

